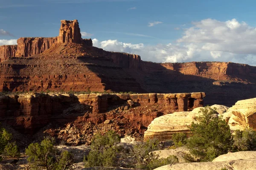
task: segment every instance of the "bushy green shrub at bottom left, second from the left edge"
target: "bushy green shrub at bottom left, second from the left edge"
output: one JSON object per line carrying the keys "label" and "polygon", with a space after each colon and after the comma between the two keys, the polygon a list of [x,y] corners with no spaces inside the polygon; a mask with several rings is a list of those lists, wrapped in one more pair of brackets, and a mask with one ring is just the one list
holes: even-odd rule
{"label": "bushy green shrub at bottom left, second from the left edge", "polygon": [[67,170],[73,165],[73,154],[55,150],[52,138],[45,138],[40,144],[29,144],[26,155],[34,170]]}

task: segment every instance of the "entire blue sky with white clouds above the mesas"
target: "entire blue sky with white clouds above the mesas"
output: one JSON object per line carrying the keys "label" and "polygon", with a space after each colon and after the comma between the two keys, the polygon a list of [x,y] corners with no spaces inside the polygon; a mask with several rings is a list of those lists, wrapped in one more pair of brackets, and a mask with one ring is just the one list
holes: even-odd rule
{"label": "entire blue sky with white clouds above the mesas", "polygon": [[0,45],[57,36],[60,20],[77,19],[95,46],[145,61],[255,65],[255,6],[253,0],[0,0]]}

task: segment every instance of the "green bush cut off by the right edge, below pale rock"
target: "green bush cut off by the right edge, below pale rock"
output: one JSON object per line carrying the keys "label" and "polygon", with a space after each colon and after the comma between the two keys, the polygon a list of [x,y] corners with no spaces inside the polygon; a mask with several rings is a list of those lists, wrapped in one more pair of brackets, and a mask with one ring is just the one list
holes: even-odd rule
{"label": "green bush cut off by the right edge, below pale rock", "polygon": [[233,151],[256,150],[256,132],[252,129],[236,130]]}

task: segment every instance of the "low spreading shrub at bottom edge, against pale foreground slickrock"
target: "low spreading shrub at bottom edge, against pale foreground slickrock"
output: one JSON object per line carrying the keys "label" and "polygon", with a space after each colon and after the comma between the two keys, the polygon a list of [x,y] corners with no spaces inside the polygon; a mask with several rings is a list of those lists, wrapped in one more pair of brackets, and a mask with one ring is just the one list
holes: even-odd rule
{"label": "low spreading shrub at bottom edge, against pale foreground slickrock", "polygon": [[178,163],[178,158],[176,156],[169,156],[167,158],[161,158],[161,159],[154,158],[149,162],[146,169],[154,170],[157,167],[162,167],[164,165],[176,164],[176,163]]}

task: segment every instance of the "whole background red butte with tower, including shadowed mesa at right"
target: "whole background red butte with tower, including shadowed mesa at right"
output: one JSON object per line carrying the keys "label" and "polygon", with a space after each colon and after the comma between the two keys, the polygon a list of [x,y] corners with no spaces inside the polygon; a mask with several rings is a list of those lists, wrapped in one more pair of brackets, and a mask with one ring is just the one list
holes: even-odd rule
{"label": "whole background red butte with tower, including shadowed mesa at right", "polygon": [[231,62],[152,63],[82,39],[77,20],[57,37],[22,37],[0,46],[0,91],[206,92],[205,104],[256,97],[256,67]]}

